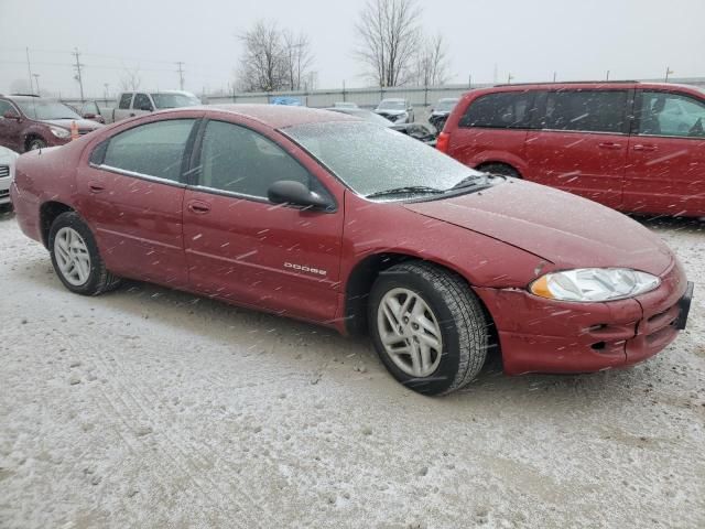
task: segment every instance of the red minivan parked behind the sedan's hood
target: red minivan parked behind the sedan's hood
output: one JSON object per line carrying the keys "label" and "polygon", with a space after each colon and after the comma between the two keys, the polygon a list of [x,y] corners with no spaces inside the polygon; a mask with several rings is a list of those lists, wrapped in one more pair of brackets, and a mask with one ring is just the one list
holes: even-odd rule
{"label": "red minivan parked behind the sedan's hood", "polygon": [[623,212],[705,216],[705,91],[663,83],[473,90],[438,149]]}

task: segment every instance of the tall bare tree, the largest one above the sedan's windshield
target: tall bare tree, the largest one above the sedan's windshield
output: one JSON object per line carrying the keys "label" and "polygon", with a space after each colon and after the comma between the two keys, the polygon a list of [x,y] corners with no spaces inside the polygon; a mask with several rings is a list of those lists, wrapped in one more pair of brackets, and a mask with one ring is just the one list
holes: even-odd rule
{"label": "tall bare tree, the largest one above the sedan's windshield", "polygon": [[368,0],[355,29],[358,60],[381,87],[399,86],[413,77],[413,58],[421,41],[421,10],[415,0]]}

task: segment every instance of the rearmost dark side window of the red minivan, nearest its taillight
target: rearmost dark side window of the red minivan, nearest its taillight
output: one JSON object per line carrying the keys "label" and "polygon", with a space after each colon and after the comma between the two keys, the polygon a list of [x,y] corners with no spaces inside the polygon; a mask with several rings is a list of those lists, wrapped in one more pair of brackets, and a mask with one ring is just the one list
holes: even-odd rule
{"label": "rearmost dark side window of the red minivan, nearest its taillight", "polygon": [[460,127],[527,129],[533,115],[533,91],[505,91],[480,96],[470,102]]}

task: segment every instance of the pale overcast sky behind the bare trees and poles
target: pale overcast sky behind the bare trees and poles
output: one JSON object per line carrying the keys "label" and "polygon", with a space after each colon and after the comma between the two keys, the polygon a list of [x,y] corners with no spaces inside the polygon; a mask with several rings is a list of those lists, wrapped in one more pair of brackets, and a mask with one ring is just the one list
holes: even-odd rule
{"label": "pale overcast sky behind the bare trees and poles", "polygon": [[[429,34],[443,33],[453,82],[705,76],[705,0],[421,1]],[[0,91],[29,83],[25,46],[42,91],[78,96],[70,54],[85,64],[86,97],[112,94],[124,68],[143,88],[227,88],[258,19],[308,34],[318,87],[367,86],[356,62],[355,21],[364,0],[0,0]],[[495,66],[497,65],[497,66]]]}

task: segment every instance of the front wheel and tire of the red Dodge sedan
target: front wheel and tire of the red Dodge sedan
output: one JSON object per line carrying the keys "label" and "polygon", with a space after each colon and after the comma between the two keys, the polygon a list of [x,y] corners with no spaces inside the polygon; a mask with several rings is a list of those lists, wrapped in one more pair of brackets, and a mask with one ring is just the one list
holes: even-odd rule
{"label": "front wheel and tire of the red Dodge sedan", "polygon": [[460,277],[435,264],[412,261],[382,272],[370,293],[368,317],[387,369],[420,393],[455,391],[485,364],[485,311]]}

